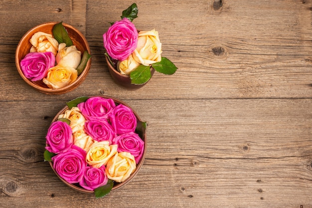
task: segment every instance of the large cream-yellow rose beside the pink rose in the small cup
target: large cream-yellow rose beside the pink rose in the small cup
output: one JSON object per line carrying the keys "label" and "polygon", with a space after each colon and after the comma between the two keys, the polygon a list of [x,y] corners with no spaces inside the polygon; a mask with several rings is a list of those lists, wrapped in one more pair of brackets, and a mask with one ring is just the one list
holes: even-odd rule
{"label": "large cream-yellow rose beside the pink rose in the small cup", "polygon": [[139,32],[138,46],[132,53],[137,62],[145,66],[159,62],[161,52],[161,43],[155,29]]}

